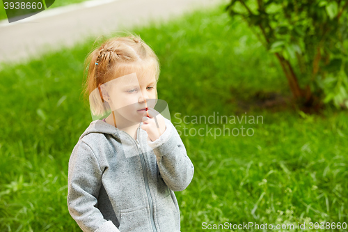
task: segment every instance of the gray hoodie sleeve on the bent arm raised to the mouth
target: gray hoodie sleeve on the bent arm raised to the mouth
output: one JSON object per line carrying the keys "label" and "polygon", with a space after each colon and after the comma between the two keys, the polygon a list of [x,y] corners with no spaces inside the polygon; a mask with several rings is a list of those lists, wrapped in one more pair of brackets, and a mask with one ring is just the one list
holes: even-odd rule
{"label": "gray hoodie sleeve on the bent arm raised to the mouth", "polygon": [[173,123],[165,118],[166,130],[156,141],[150,142],[157,165],[166,185],[173,191],[182,191],[193,178],[193,164]]}

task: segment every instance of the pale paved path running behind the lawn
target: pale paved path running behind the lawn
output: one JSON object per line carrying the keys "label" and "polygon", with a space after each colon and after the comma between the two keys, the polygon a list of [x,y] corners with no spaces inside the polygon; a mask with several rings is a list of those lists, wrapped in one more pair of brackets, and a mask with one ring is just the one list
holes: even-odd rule
{"label": "pale paved path running behind the lawn", "polygon": [[24,20],[0,22],[0,63],[23,62],[42,52],[72,46],[86,36],[166,21],[226,0],[93,0],[52,8]]}

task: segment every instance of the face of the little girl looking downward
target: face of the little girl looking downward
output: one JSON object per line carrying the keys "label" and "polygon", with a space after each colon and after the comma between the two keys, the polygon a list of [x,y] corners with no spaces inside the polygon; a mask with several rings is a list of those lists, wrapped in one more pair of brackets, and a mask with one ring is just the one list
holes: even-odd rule
{"label": "face of the little girl looking downward", "polygon": [[148,107],[155,107],[155,77],[137,77],[134,72],[108,82],[108,91],[111,110],[127,121],[142,121],[145,111],[141,109],[145,109],[145,101]]}

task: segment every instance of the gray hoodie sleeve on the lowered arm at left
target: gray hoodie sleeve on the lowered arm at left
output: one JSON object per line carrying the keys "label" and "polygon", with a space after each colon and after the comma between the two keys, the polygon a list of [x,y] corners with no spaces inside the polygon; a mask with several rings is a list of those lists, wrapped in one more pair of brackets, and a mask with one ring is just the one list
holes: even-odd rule
{"label": "gray hoodie sleeve on the lowered arm at left", "polygon": [[68,170],[68,210],[84,232],[120,232],[97,208],[102,170],[93,150],[79,141],[72,150]]}

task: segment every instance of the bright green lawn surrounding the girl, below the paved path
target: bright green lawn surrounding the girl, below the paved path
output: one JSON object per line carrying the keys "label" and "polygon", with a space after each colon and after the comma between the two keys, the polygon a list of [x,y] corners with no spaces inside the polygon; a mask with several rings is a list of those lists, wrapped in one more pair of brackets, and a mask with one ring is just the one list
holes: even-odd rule
{"label": "bright green lawn surrounding the girl, below the paved path", "polygon": [[[290,92],[274,56],[222,7],[133,31],[159,56],[159,98],[168,102],[195,167],[191,185],[175,192],[182,231],[202,231],[203,222],[348,221],[347,111],[328,107],[309,116],[251,107],[245,114],[240,99],[260,90]],[[92,44],[2,65],[0,231],[81,231],[68,212],[67,175],[72,148],[91,120],[81,84]],[[228,123],[230,129],[251,127],[254,134],[214,139],[184,136],[184,126],[206,125],[177,124],[174,117],[218,111],[262,116],[263,123]]]}

